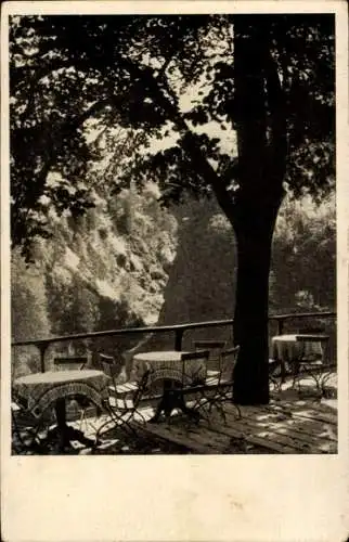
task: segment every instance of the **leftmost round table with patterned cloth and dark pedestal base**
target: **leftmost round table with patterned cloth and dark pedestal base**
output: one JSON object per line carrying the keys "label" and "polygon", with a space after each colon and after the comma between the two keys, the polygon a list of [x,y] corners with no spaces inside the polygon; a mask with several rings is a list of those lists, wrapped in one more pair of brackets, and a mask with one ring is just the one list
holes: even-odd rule
{"label": "leftmost round table with patterned cloth and dark pedestal base", "polygon": [[51,437],[59,436],[62,451],[72,440],[78,440],[87,446],[92,443],[81,431],[67,425],[66,399],[87,398],[102,410],[108,384],[109,378],[102,371],[48,371],[16,378],[13,392],[21,404],[24,404],[37,418],[42,416],[47,409],[54,408],[56,427],[51,430]]}

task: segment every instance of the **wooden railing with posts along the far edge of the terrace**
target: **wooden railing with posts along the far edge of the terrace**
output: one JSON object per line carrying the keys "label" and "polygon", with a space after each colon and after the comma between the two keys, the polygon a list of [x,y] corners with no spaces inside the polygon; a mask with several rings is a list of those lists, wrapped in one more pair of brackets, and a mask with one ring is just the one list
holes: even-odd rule
{"label": "wooden railing with posts along the far edge of the terrace", "polygon": [[[305,320],[305,319],[323,319],[323,318],[336,318],[336,312],[324,311],[324,312],[302,312],[302,313],[287,313],[287,314],[274,314],[269,317],[269,321],[275,321],[277,323],[277,334],[281,335],[284,331],[284,323],[288,320]],[[114,337],[119,335],[134,335],[134,334],[157,334],[173,332],[174,333],[174,350],[181,350],[183,335],[189,330],[203,330],[205,327],[222,327],[232,326],[233,320],[212,320],[208,322],[191,322],[185,324],[176,325],[160,325],[160,326],[147,326],[147,327],[126,327],[121,330],[108,330],[103,332],[90,332],[90,333],[78,333],[73,335],[62,335],[56,337],[50,337],[44,339],[31,339],[31,340],[17,340],[12,343],[12,347],[21,346],[35,346],[40,352],[40,371],[44,372],[44,354],[47,348],[53,343],[64,343],[79,339],[93,339],[101,337]]]}

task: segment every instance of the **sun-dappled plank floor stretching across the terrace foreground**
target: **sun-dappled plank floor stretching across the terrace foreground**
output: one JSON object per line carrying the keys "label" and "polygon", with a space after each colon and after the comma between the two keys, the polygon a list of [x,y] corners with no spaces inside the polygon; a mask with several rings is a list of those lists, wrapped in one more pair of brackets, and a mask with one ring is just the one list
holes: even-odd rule
{"label": "sun-dappled plank floor stretching across the terrace foreground", "polygon": [[[141,454],[334,454],[337,453],[337,399],[321,397],[315,386],[301,382],[293,389],[271,393],[270,403],[241,406],[225,401],[223,409],[211,409],[195,422],[173,411],[170,418],[148,423],[154,404],[144,401],[140,412],[122,426],[107,414],[91,415],[69,422],[94,439],[105,426],[95,448],[72,442],[66,454],[141,455]],[[306,392],[305,392],[305,388]],[[189,405],[191,403],[189,402]],[[109,423],[107,423],[109,421]],[[35,453],[35,452],[33,452]],[[49,454],[57,454],[52,449]]]}

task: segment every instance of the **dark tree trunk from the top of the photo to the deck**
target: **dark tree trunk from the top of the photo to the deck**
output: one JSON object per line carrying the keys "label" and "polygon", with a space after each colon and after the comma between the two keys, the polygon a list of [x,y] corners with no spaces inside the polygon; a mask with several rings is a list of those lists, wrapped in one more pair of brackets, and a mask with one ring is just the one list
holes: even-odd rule
{"label": "dark tree trunk from the top of the photo to the deck", "polygon": [[[269,402],[269,272],[275,221],[283,197],[285,153],[282,92],[269,55],[266,25],[236,16],[234,24],[234,117],[238,191],[231,215],[237,243],[234,343],[240,353],[233,401]],[[269,137],[268,137],[269,134]],[[270,137],[271,134],[271,137]],[[279,155],[280,154],[280,155]]]}

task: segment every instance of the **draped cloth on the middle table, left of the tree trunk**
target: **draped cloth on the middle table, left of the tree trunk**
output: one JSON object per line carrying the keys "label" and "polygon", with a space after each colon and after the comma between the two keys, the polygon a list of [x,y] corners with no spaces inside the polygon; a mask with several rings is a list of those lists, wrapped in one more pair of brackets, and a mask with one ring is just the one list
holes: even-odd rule
{"label": "draped cloth on the middle table, left of the tree trunk", "polygon": [[[133,357],[133,371],[141,378],[145,371],[150,371],[148,384],[160,379],[182,382],[183,365],[179,351],[140,352]],[[185,362],[183,384],[204,382],[206,378],[205,359],[189,360]]]}

